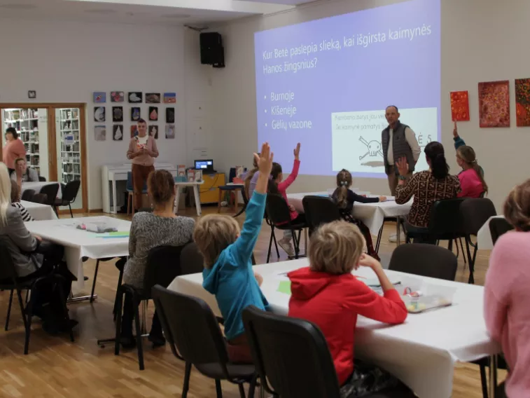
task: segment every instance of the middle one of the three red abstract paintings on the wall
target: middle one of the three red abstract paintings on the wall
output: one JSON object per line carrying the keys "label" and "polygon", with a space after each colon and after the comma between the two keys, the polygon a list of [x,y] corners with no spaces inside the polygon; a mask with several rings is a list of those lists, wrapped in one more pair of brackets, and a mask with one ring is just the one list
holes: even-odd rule
{"label": "middle one of the three red abstract paintings on the wall", "polygon": [[510,82],[478,83],[480,127],[510,127]]}

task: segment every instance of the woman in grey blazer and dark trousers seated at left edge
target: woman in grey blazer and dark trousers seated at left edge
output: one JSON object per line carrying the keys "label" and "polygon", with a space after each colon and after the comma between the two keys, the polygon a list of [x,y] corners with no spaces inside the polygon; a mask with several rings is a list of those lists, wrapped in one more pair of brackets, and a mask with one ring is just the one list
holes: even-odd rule
{"label": "woman in grey blazer and dark trousers seated at left edge", "polygon": [[[67,281],[62,288],[64,295],[68,294],[72,278],[62,262],[64,247],[43,242],[41,237],[29,233],[20,210],[11,205],[11,179],[4,163],[0,163],[0,241],[11,254],[21,281],[58,273]],[[42,318],[43,329],[50,334],[69,330],[72,325],[64,319],[64,303],[59,292],[43,287],[34,294],[33,313]]]}

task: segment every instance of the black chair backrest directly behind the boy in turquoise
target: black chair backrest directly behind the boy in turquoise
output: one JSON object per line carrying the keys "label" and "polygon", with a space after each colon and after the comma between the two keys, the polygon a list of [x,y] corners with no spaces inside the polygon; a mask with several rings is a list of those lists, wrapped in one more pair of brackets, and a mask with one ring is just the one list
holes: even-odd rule
{"label": "black chair backrest directly behind the boy in turquoise", "polygon": [[[175,355],[195,366],[219,364],[228,379],[225,339],[211,308],[202,299],[153,287],[153,301],[164,335]],[[175,350],[176,348],[176,350]]]}

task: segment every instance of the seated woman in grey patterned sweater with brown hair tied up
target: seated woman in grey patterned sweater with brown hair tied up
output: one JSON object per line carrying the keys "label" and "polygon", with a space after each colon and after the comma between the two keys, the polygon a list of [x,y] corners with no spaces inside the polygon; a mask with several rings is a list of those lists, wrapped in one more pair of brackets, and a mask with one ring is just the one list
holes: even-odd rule
{"label": "seated woman in grey patterned sweater with brown hair tied up", "polygon": [[[175,181],[167,170],[155,170],[147,179],[149,197],[153,200],[153,212],[139,212],[132,217],[129,235],[129,260],[125,264],[123,282],[135,288],[144,287],[147,256],[153,247],[186,245],[192,239],[195,221],[188,217],[177,217],[173,212],[176,195]],[[171,282],[171,281],[168,281]],[[132,336],[134,307],[130,294],[125,294],[120,343],[124,348],[133,348]],[[149,341],[155,346],[165,345],[158,315],[153,315]]]}

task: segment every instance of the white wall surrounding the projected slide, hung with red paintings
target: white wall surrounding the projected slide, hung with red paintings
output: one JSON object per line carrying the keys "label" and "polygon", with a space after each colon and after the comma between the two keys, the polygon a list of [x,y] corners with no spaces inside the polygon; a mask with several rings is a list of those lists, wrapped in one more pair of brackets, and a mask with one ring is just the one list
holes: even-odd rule
{"label": "white wall surrounding the projected slide, hung with red paintings", "polygon": [[[225,69],[210,72],[215,95],[212,135],[218,170],[249,165],[251,153],[258,147],[254,32],[398,2],[328,0],[218,27],[216,30],[223,34],[226,63]],[[475,148],[490,187],[489,197],[498,209],[510,188],[529,177],[530,128],[515,127],[513,86],[515,78],[530,77],[530,55],[525,50],[528,15],[528,0],[442,0],[442,143],[456,174],[459,170],[452,148],[449,91],[468,90],[471,121],[461,123],[461,136]],[[477,83],[496,80],[510,80],[512,128],[480,129]],[[303,149],[301,158],[312,161],[303,158]],[[333,177],[300,176],[292,189],[321,191],[334,183]],[[358,179],[355,186],[374,193],[389,191],[386,179]]]}

